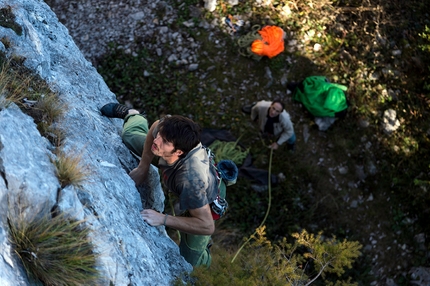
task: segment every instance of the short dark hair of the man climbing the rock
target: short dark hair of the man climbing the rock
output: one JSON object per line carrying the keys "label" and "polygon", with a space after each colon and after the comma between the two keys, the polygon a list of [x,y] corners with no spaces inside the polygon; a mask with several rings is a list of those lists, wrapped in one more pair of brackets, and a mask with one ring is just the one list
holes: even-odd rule
{"label": "short dark hair of the man climbing the rock", "polygon": [[184,152],[181,157],[185,157],[200,143],[200,126],[184,116],[166,116],[158,128],[160,135],[175,147],[173,151],[179,149]]}

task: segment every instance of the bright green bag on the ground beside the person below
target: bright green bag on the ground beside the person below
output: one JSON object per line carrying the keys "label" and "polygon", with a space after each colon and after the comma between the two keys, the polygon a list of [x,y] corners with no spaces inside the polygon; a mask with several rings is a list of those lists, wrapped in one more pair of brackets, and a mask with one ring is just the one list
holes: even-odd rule
{"label": "bright green bag on the ground beside the person below", "polygon": [[324,76],[305,78],[294,90],[293,99],[301,102],[315,117],[339,117],[348,108],[344,85],[330,83]]}

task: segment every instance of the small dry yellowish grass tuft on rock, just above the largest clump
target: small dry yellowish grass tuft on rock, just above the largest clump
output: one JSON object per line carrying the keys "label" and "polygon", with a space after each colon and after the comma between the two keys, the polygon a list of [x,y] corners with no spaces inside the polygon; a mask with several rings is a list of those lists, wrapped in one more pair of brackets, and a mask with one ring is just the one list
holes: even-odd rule
{"label": "small dry yellowish grass tuft on rock, just above the largest clump", "polygon": [[90,174],[89,170],[82,165],[82,156],[66,154],[62,151],[58,151],[56,155],[53,163],[61,187],[64,188],[68,185],[79,187]]}

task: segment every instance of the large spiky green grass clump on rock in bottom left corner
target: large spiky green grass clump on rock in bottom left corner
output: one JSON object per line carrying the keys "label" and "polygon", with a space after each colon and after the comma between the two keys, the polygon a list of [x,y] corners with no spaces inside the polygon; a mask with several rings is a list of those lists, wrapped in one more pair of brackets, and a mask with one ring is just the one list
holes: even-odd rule
{"label": "large spiky green grass clump on rock in bottom left corner", "polygon": [[82,221],[64,215],[8,216],[10,240],[27,274],[44,285],[95,285],[97,254]]}

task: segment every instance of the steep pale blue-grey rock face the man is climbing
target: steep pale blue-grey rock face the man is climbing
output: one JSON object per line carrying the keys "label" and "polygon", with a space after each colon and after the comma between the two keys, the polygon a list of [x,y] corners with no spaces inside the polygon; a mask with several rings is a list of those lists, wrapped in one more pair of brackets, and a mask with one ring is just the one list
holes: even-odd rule
{"label": "steep pale blue-grey rock face the man is climbing", "polygon": [[[17,35],[0,26],[0,51],[24,58],[67,107],[58,123],[66,139],[61,149],[82,156],[91,171],[80,188],[61,188],[51,163],[54,147],[33,119],[16,105],[2,104],[0,94],[0,285],[30,285],[8,241],[6,218],[18,204],[23,215],[44,214],[56,207],[85,219],[100,254],[100,285],[169,285],[192,270],[164,227],[151,227],[143,208],[164,208],[156,168],[140,193],[128,172],[138,161],[121,141],[122,120],[99,109],[116,101],[102,77],[76,47],[67,29],[40,0],[0,0],[22,28]],[[4,101],[3,101],[4,103]]]}

